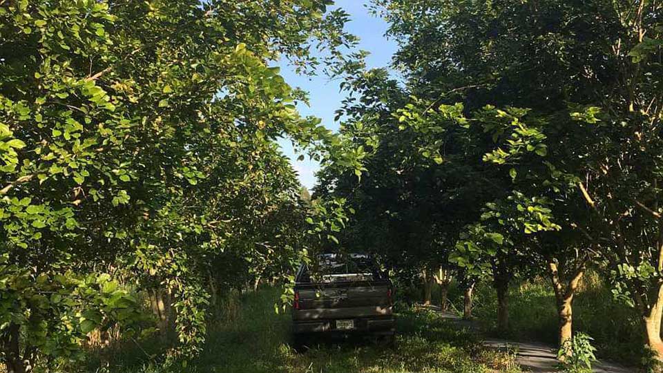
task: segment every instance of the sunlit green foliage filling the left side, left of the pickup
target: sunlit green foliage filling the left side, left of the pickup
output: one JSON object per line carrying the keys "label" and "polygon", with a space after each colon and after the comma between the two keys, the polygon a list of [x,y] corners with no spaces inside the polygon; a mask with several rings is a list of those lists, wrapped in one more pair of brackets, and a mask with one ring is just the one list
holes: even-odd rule
{"label": "sunlit green foliage filling the left side, left of the pickup", "polygon": [[128,287],[170,300],[166,358],[186,361],[204,344],[210,301],[296,265],[309,211],[276,141],[360,174],[362,155],[300,117],[305,96],[267,61],[344,63],[339,50],[356,39],[343,10],[325,15],[329,4],[0,7],[6,363],[68,363],[92,329],[132,327],[145,309]]}

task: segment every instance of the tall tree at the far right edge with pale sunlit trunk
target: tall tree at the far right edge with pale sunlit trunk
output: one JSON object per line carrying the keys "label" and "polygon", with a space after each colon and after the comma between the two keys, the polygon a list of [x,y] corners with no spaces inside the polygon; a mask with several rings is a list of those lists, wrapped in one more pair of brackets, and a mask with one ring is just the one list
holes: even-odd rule
{"label": "tall tree at the far right edge with pale sunlit trunk", "polygon": [[[568,268],[566,289],[573,289],[586,253],[611,258],[606,274],[617,293],[640,309],[648,344],[662,354],[656,295],[661,5],[554,0],[377,5],[392,24],[390,35],[404,40],[396,63],[419,96],[444,102],[449,98],[444,93],[453,93],[470,109],[517,106],[546,119],[550,164],[577,178],[575,187],[563,191],[566,200],[555,204],[564,211],[579,206],[580,197],[588,207],[555,213],[560,225],[579,234],[568,236],[573,242],[564,242],[561,251],[551,251],[558,243],[548,242],[542,252],[580,254],[570,256],[575,265],[564,266],[566,260],[549,256],[557,263],[550,271]],[[557,294],[569,300],[561,282],[554,281]]]}

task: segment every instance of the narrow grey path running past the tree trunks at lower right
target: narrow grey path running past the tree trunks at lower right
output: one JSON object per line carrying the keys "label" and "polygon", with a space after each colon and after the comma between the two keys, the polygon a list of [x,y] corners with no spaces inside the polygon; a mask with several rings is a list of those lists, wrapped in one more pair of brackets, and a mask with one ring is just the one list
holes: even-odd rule
{"label": "narrow grey path running past the tree trunks at lower right", "polygon": [[[463,320],[455,314],[449,312],[442,312],[439,307],[427,306],[427,309],[432,309],[439,312],[443,318],[448,319],[454,325],[459,327],[468,328],[477,334],[481,334],[479,324],[475,321]],[[517,362],[521,367],[529,370],[532,373],[557,373],[559,372],[555,365],[557,365],[557,354],[555,346],[547,345],[545,343],[537,342],[517,342],[508,341],[506,339],[488,338],[483,340],[483,344],[500,350],[515,350],[517,354]],[[607,361],[597,361],[593,364],[593,371],[596,373],[634,373],[637,370],[634,368],[624,367]]]}

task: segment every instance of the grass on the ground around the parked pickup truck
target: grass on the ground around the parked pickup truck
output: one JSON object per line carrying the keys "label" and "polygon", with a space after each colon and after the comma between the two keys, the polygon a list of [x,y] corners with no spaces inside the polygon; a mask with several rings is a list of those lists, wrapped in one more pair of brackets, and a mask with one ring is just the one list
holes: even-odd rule
{"label": "grass on the ground around the parked pickup truck", "polygon": [[[200,373],[517,373],[515,356],[485,350],[477,338],[438,315],[405,307],[398,312],[396,348],[371,341],[319,341],[304,354],[292,350],[289,314],[275,314],[278,289],[265,288],[224,305],[204,353],[183,372]],[[129,346],[131,347],[131,346]],[[133,346],[132,350],[136,350]],[[135,351],[134,351],[135,352]],[[140,354],[139,354],[140,355]],[[142,365],[141,365],[142,364]],[[94,371],[94,370],[93,370]],[[107,372],[162,373],[137,355],[115,352]]]}

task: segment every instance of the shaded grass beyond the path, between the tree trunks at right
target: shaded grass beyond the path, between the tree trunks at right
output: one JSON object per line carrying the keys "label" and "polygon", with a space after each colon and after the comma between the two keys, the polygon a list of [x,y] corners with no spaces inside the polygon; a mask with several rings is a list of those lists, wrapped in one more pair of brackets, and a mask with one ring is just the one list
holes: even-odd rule
{"label": "shaded grass beyond the path, between the tree trunks at right", "polygon": [[[436,294],[436,293],[434,293]],[[557,343],[555,294],[546,280],[523,283],[510,290],[510,329],[497,335],[497,294],[490,284],[477,285],[473,314],[488,334],[519,341]],[[461,307],[463,294],[457,285],[450,289],[450,299]],[[596,274],[590,273],[573,303],[573,329],[594,338],[599,358],[637,365],[644,356],[644,341],[634,309],[613,300],[610,289]]]}

